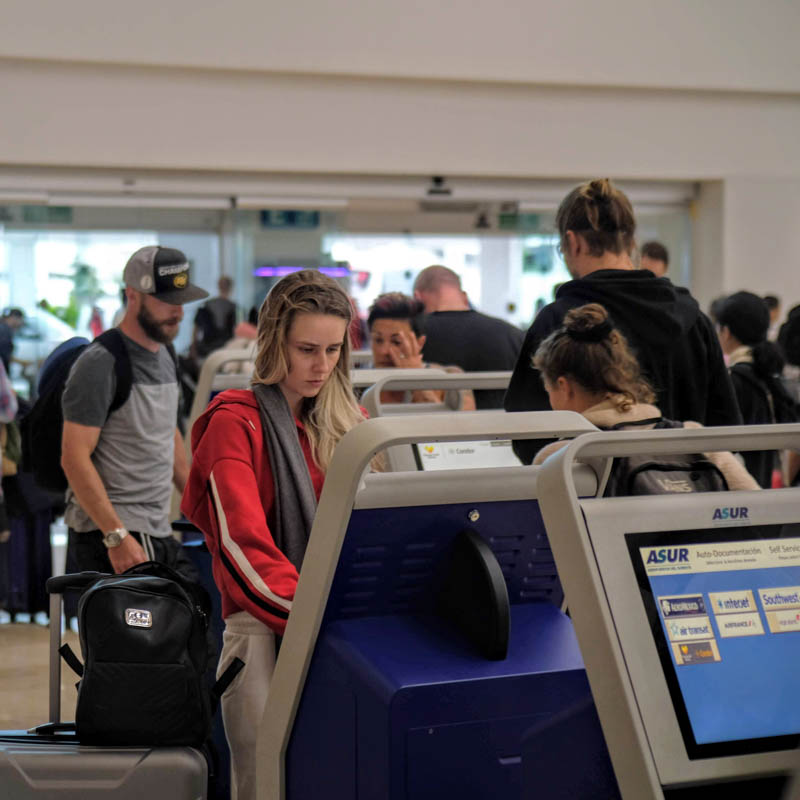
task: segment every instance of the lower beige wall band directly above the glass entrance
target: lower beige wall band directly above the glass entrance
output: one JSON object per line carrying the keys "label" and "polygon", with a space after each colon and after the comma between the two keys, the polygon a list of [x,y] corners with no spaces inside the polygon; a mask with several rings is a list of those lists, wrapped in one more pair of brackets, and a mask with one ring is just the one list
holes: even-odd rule
{"label": "lower beige wall band directly above the glass entrance", "polygon": [[0,165],[800,175],[794,96],[0,62]]}

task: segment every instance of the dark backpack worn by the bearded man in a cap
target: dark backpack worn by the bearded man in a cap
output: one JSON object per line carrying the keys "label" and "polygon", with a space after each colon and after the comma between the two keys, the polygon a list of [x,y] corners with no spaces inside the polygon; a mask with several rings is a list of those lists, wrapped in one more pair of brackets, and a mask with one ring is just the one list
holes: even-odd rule
{"label": "dark backpack worn by the bearded man in a cap", "polygon": [[[125,405],[130,397],[133,368],[123,336],[117,328],[104,331],[94,341],[114,356],[117,383],[108,409],[110,416]],[[39,396],[20,420],[22,471],[32,473],[40,488],[62,494],[67,490],[68,483],[61,468],[61,435],[64,428],[61,396],[72,365],[88,346],[86,339],[75,337],[59,345],[48,356],[39,378]],[[175,349],[167,345],[167,350],[177,371]]]}

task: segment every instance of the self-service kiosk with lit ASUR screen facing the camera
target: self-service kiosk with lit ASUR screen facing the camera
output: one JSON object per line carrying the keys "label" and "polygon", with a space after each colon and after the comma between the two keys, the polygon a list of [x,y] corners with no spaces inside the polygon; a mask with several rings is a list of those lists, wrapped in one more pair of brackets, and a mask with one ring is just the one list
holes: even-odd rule
{"label": "self-service kiosk with lit ASUR screen facing the camera", "polygon": [[[542,514],[626,800],[780,798],[800,766],[800,492],[581,499],[575,465],[786,447],[800,449],[800,426],[593,433],[542,467]],[[549,796],[534,776],[570,769],[579,716],[523,748],[525,797]],[[591,757],[575,754],[558,796],[596,796],[580,775]]]}

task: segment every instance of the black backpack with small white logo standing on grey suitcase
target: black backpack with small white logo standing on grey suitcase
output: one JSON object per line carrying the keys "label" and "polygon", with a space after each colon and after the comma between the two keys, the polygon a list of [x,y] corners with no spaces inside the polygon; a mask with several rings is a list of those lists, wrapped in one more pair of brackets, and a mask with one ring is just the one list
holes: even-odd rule
{"label": "black backpack with small white logo standing on grey suitcase", "polygon": [[68,644],[60,650],[81,676],[75,711],[79,741],[202,745],[219,696],[244,666],[234,659],[209,687],[211,601],[205,589],[153,561],[121,575],[80,573],[51,580],[89,586],[78,606],[83,664]]}

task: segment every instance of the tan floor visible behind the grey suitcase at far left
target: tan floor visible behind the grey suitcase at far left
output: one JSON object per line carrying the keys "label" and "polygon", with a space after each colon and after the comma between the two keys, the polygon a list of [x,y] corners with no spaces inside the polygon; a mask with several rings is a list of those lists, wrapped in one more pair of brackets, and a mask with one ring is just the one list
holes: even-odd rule
{"label": "tan floor visible behind the grey suitcase at far left", "polygon": [[[78,637],[66,631],[80,656]],[[0,730],[27,729],[48,722],[49,633],[40,625],[0,625]],[[75,719],[78,677],[62,661],[61,719]]]}

